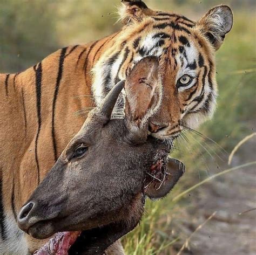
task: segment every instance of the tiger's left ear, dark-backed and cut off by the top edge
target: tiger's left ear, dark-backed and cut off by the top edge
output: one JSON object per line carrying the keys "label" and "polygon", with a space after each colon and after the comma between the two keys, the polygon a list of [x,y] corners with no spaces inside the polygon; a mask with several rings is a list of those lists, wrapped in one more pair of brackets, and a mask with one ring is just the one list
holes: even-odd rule
{"label": "tiger's left ear, dark-backed and cut off by the top edge", "polygon": [[125,25],[142,21],[145,12],[149,10],[141,0],[122,0],[123,7],[119,9],[120,19]]}

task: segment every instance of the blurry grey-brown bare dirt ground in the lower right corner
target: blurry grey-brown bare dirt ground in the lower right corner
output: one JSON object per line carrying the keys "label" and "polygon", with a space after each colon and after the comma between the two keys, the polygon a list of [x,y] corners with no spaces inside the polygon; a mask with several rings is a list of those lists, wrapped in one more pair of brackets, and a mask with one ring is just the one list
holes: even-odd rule
{"label": "blurry grey-brown bare dirt ground in the lower right corner", "polygon": [[[256,160],[256,138],[247,141],[234,156],[232,167]],[[221,169],[227,169],[226,165]],[[217,211],[195,232],[183,255],[256,254],[256,167],[235,170],[200,187],[193,209],[191,232]],[[194,199],[193,199],[194,200]],[[195,201],[193,201],[195,202]],[[244,212],[244,213],[242,213]],[[241,213],[241,214],[240,214]],[[188,235],[189,236],[189,235]]]}

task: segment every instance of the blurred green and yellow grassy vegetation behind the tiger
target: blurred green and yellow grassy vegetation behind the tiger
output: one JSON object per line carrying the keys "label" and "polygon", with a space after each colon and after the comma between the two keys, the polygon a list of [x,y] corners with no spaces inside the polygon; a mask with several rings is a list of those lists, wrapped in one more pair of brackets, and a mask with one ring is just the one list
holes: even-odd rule
{"label": "blurred green and yellow grassy vegetation behind the tiger", "polygon": [[[187,133],[186,137],[177,141],[177,150],[174,151],[173,156],[185,163],[186,175],[171,195],[159,202],[147,202],[147,213],[142,223],[135,231],[123,238],[127,254],[177,254],[186,239],[196,230],[196,226],[204,222],[205,217],[202,216],[200,206],[205,200],[201,194],[207,194],[208,201],[221,199],[225,197],[227,190],[219,192],[218,196],[208,193],[208,190],[219,190],[219,185],[228,181],[227,185],[232,185],[233,181],[220,178],[215,181],[215,184],[200,186],[181,199],[175,200],[175,197],[208,176],[225,169],[227,156],[232,148],[243,137],[253,133],[256,126],[256,8],[254,0],[223,2],[218,0],[145,0],[145,2],[150,8],[182,13],[195,20],[217,4],[229,4],[234,11],[233,30],[227,35],[224,45],[217,52],[219,84],[217,112],[213,120],[206,122],[200,128],[204,137]],[[119,4],[119,0],[1,0],[0,72],[22,71],[60,47],[85,44],[117,31],[121,26],[116,24]],[[251,143],[250,150],[246,153],[245,150],[244,153],[240,151],[233,166],[254,160],[255,144],[255,142]],[[245,172],[242,173],[244,175],[239,176],[241,179],[246,176]],[[234,182],[245,190],[244,183],[236,183],[239,178],[234,177]],[[255,175],[250,178],[256,181]],[[255,186],[250,190],[253,190],[255,194]],[[234,190],[233,195],[230,194],[229,203],[232,204],[238,192]],[[255,201],[252,193],[248,196],[253,196]],[[241,208],[244,202],[241,201]],[[214,203],[210,207],[207,208],[207,213],[210,209],[212,211],[220,209]],[[253,205],[250,204],[247,207],[250,209]],[[255,203],[254,207],[256,207]],[[227,218],[230,217],[228,213],[231,212],[227,211]],[[243,227],[238,225],[237,228]],[[221,231],[221,226],[219,231]],[[256,237],[255,228],[247,232],[248,235]],[[251,238],[248,235],[246,239]],[[191,243],[185,243],[183,254],[219,254],[210,250],[207,253],[199,252],[199,250],[196,253],[189,253],[188,250],[190,252],[193,250],[191,247],[193,242],[190,241]],[[215,245],[221,245],[223,241],[223,245],[226,244],[228,247],[233,245],[225,239],[216,239],[214,242]],[[255,246],[249,245],[247,253],[222,254],[255,254],[254,249]]]}

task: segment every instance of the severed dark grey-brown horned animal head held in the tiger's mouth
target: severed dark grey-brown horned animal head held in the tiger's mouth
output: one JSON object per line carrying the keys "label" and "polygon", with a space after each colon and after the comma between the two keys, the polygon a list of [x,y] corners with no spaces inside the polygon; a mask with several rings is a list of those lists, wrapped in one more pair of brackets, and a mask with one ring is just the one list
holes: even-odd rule
{"label": "severed dark grey-brown horned animal head held in the tiger's mouth", "polygon": [[[90,113],[19,212],[22,230],[39,239],[82,230],[70,254],[102,254],[138,224],[145,196],[161,198],[172,189],[184,166],[147,136],[161,104],[158,68],[158,58],[144,58]],[[123,87],[125,119],[111,120]]]}

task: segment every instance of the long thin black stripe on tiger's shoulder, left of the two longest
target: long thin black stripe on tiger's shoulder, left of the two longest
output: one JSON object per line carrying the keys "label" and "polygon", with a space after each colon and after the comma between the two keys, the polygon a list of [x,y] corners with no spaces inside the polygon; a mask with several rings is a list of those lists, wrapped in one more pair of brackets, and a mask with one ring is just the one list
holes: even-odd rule
{"label": "long thin black stripe on tiger's shoulder, left of the two longest", "polygon": [[36,72],[36,102],[37,102],[37,120],[38,120],[38,129],[36,134],[36,142],[35,142],[35,156],[36,156],[36,165],[37,165],[37,182],[40,182],[40,169],[38,162],[38,154],[37,154],[37,146],[38,146],[38,138],[41,130],[41,86],[42,86],[42,63],[39,63],[37,68],[34,68]]}

